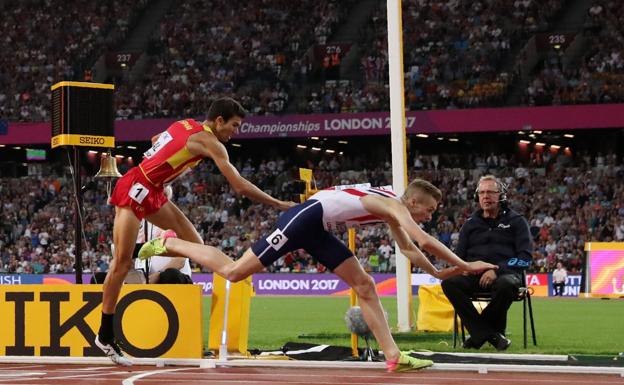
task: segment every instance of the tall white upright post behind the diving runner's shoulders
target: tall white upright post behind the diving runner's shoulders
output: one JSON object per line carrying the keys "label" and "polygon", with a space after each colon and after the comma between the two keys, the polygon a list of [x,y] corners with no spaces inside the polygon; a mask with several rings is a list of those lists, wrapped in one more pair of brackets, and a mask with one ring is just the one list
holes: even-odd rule
{"label": "tall white upright post behind the diving runner's shoulders", "polygon": [[[407,186],[407,149],[405,147],[405,102],[403,99],[403,27],[401,0],[387,0],[388,67],[390,69],[390,139],[392,144],[392,187],[402,195]],[[411,267],[395,244],[398,328],[410,330]]]}

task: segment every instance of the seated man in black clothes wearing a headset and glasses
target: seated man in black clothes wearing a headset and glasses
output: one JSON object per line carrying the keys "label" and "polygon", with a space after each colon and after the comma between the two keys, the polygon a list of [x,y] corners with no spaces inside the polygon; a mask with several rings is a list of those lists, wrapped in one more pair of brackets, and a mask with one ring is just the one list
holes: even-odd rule
{"label": "seated man in black clothes wearing a headset and glasses", "polygon": [[[531,264],[532,240],[523,216],[507,207],[506,186],[493,175],[479,179],[475,200],[480,209],[463,225],[455,253],[466,261],[498,265],[480,275],[459,275],[442,282],[442,290],[470,333],[464,348],[479,349],[487,341],[505,350],[507,310],[524,286],[522,269]],[[479,314],[471,296],[490,292],[491,302]]]}

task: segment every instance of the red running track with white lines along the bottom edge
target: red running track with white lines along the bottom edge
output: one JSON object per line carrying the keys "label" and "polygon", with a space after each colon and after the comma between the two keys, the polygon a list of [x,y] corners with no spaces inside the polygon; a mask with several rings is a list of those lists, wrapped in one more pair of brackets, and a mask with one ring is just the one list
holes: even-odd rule
{"label": "red running track with white lines along the bottom edge", "polygon": [[617,375],[488,373],[422,370],[290,369],[1,364],[0,385],[622,385]]}

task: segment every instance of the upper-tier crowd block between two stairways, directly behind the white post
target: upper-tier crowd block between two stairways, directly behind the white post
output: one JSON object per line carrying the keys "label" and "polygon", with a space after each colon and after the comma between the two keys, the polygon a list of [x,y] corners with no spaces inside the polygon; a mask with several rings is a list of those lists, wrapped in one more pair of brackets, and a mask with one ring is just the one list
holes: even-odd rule
{"label": "upper-tier crowd block between two stairways, directly behind the white post", "polygon": [[[514,73],[503,68],[512,45],[544,31],[564,1],[415,1],[403,9],[405,106],[410,110],[501,106]],[[363,81],[314,89],[309,112],[388,109],[385,2],[361,32]],[[358,83],[359,84],[359,83]],[[379,95],[381,93],[381,95]],[[385,97],[384,97],[385,95]],[[371,103],[371,99],[377,103]]]}

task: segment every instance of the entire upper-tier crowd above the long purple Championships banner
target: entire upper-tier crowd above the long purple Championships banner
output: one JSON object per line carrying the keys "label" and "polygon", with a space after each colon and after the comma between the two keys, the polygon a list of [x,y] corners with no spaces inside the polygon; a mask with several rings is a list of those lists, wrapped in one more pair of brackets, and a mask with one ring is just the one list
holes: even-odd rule
{"label": "entire upper-tier crowd above the long purple Championships banner", "polygon": [[[406,107],[503,105],[523,60],[515,57],[518,49],[533,34],[548,30],[570,3],[406,2]],[[133,74],[132,81],[113,79],[118,118],[200,116],[217,94],[240,99],[256,115],[387,110],[385,2],[376,4],[359,40],[344,42],[360,47],[355,59],[359,79],[338,75],[327,81],[325,75],[317,76],[323,73],[322,59],[312,52],[349,23],[357,2],[293,4],[218,0],[205,7],[188,0],[171,7],[146,47],[150,59],[145,72]],[[64,4],[61,17],[52,17],[50,0],[0,4],[5,16],[0,47],[14,53],[0,58],[0,119],[47,120],[50,85],[90,79],[96,60],[122,46],[147,6],[146,0],[132,5],[72,0]],[[524,85],[522,103],[624,101],[622,17],[620,2],[593,0],[584,28],[576,31],[587,37],[589,47],[580,64],[566,65],[563,50],[552,50]],[[295,98],[299,92],[303,98]],[[292,103],[296,105],[289,108]]]}

